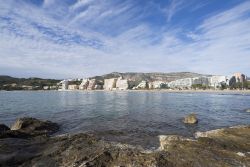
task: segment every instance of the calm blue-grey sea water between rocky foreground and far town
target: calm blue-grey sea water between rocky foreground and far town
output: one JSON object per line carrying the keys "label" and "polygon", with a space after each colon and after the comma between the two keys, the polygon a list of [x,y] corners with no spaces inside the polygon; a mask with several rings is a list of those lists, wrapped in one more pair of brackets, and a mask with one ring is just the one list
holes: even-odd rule
{"label": "calm blue-grey sea water between rocky foreground and far town", "polygon": [[[36,117],[61,125],[62,133],[89,132],[111,141],[154,146],[157,135],[192,136],[250,124],[250,95],[167,92],[0,92],[0,123]],[[196,113],[197,125],[182,119]]]}

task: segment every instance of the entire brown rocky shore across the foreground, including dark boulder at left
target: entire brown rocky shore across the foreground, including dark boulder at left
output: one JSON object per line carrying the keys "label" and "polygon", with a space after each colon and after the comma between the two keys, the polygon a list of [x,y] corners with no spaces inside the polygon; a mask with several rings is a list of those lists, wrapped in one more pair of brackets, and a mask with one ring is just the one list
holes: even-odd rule
{"label": "entire brown rocky shore across the foreground, including dark boulder at left", "polygon": [[250,166],[250,126],[159,136],[160,147],[103,141],[93,134],[51,136],[60,126],[35,118],[0,125],[0,166],[219,167]]}

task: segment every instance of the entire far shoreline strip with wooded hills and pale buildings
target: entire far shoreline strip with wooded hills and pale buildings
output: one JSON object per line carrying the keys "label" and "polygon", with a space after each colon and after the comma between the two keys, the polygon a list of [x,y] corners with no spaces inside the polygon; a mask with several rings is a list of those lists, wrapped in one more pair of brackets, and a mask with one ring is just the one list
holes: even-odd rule
{"label": "entire far shoreline strip with wooded hills and pale buildings", "polygon": [[110,73],[86,79],[41,79],[0,76],[0,90],[223,90],[250,89],[242,73],[231,76],[179,73]]}

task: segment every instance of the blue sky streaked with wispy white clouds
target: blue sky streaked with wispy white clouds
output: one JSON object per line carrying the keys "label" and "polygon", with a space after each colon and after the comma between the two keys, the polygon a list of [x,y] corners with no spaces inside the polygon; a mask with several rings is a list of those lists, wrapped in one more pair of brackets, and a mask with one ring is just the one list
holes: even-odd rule
{"label": "blue sky streaked with wispy white clouds", "polygon": [[0,75],[250,75],[249,0],[0,0]]}

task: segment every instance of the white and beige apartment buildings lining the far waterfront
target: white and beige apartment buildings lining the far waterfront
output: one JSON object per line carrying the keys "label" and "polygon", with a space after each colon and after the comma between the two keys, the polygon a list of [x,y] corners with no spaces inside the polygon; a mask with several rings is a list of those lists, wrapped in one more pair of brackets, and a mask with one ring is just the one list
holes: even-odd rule
{"label": "white and beige apartment buildings lining the far waterfront", "polygon": [[[44,89],[48,89],[45,87]],[[139,83],[134,79],[120,77],[98,80],[96,78],[68,79],[58,84],[58,90],[151,90],[151,89],[250,89],[247,76],[234,73],[232,76],[198,76],[177,79],[170,82],[162,80]]]}

